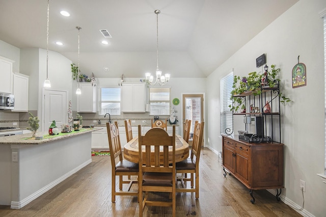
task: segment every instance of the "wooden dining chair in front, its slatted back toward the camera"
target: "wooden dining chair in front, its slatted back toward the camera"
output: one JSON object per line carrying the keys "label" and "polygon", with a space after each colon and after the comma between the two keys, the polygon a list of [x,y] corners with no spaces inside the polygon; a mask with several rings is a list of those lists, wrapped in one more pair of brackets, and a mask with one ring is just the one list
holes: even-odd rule
{"label": "wooden dining chair in front, its slatted back toward the camera", "polygon": [[[145,206],[172,206],[172,216],[176,214],[176,170],[175,170],[175,125],[172,136],[162,128],[154,127],[141,134],[138,125],[139,139],[139,216],[143,216]],[[172,155],[169,157],[169,147]],[[145,150],[144,154],[142,150]],[[153,150],[153,152],[152,152]],[[146,160],[143,158],[145,155]],[[172,159],[171,159],[172,158]],[[163,159],[163,164],[160,161]],[[170,160],[170,161],[169,161]],[[170,163],[170,164],[169,164]],[[143,198],[143,192],[145,192]],[[170,193],[172,200],[153,200],[149,192]]]}

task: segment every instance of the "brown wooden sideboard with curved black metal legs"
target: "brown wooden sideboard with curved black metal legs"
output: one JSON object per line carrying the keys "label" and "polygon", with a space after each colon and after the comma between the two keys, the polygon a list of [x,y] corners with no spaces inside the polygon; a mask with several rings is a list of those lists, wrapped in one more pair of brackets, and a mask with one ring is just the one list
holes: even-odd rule
{"label": "brown wooden sideboard with curved black metal legs", "polygon": [[[223,136],[223,170],[232,174],[250,189],[251,202],[255,203],[253,190],[277,189],[280,200],[283,188],[283,144],[247,143],[230,136]],[[280,188],[280,193],[278,191]]]}

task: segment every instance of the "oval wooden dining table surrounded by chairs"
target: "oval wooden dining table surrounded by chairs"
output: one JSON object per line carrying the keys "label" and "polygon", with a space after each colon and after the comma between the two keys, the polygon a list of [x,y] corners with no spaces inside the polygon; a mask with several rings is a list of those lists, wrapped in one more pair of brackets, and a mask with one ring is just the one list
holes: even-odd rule
{"label": "oval wooden dining table surrounded by chairs", "polygon": [[[127,144],[124,145],[123,156],[126,160],[138,163],[138,137],[132,138]],[[152,159],[154,159],[154,149],[152,150]],[[169,148],[169,155],[172,155],[172,147]],[[180,162],[189,156],[189,144],[181,137],[176,135],[175,137],[175,161]],[[145,148],[143,149],[143,160],[145,160]],[[170,161],[171,159],[171,161]],[[172,156],[169,157],[170,163],[172,163]]]}

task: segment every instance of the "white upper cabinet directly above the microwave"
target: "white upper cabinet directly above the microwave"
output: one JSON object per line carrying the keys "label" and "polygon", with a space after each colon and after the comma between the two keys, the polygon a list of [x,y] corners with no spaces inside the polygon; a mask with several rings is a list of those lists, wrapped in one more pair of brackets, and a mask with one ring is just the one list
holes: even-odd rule
{"label": "white upper cabinet directly above the microwave", "polygon": [[13,60],[0,56],[0,92],[12,94],[12,64]]}

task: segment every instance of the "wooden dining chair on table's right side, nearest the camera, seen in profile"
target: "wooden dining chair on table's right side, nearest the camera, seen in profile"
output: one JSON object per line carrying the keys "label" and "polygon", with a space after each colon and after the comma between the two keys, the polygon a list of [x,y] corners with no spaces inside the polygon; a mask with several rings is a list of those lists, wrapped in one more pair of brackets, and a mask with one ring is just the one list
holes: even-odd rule
{"label": "wooden dining chair on table's right side, nearest the camera, seen in profile", "polygon": [[[177,188],[176,192],[195,192],[196,199],[199,198],[199,159],[200,159],[200,150],[203,141],[203,132],[204,132],[204,122],[195,123],[194,128],[194,138],[193,146],[190,156],[176,163],[177,173],[190,173],[190,178],[184,177],[178,178],[181,181],[182,188]],[[194,174],[195,176],[195,188],[194,188]],[[186,182],[191,182],[191,188],[186,186]]]}

